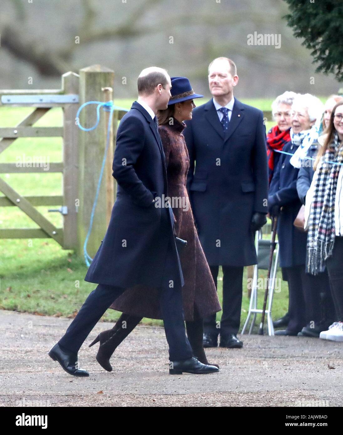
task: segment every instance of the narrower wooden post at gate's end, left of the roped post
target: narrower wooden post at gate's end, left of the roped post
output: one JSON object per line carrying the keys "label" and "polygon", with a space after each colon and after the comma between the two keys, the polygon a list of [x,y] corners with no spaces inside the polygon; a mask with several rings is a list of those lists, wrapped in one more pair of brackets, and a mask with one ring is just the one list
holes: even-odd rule
{"label": "narrower wooden post at gate's end, left of the roped post", "polygon": [[[69,71],[62,76],[64,94],[79,93],[79,75]],[[63,215],[63,248],[77,249],[77,207],[78,197],[78,146],[79,127],[75,124],[77,104],[63,107],[63,205],[67,214]]]}

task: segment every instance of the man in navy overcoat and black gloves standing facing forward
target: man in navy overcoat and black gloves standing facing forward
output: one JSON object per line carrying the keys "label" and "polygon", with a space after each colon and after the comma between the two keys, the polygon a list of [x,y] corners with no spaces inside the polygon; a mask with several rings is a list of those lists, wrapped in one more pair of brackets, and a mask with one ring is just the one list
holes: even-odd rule
{"label": "man in navy overcoat and black gloves standing facing forward", "polygon": [[208,68],[213,98],[185,121],[187,187],[215,284],[223,271],[222,319],[205,318],[204,346],[240,348],[243,266],[256,264],[255,232],[266,223],[268,169],[261,110],[233,97],[236,66],[226,57]]}

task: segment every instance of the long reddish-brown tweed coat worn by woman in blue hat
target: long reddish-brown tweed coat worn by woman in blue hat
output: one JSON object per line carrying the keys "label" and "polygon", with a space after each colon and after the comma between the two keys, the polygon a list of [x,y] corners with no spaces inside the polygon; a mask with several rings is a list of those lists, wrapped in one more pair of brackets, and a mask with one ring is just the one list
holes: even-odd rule
{"label": "long reddish-brown tweed coat worn by woman in blue hat", "polygon": [[[194,307],[200,317],[204,318],[221,310],[211,271],[202,250],[194,226],[191,204],[186,190],[189,167],[188,151],[182,131],[186,127],[174,119],[173,125],[159,125],[165,152],[167,168],[168,196],[181,198],[171,201],[175,216],[175,234],[187,240],[187,246],[180,252],[180,262],[185,285],[182,287],[184,317],[186,321],[194,320]],[[181,207],[180,207],[181,205]],[[142,290],[144,298],[141,297]],[[158,304],[158,288],[128,288],[114,301],[111,308],[126,314],[147,318],[161,318]]]}

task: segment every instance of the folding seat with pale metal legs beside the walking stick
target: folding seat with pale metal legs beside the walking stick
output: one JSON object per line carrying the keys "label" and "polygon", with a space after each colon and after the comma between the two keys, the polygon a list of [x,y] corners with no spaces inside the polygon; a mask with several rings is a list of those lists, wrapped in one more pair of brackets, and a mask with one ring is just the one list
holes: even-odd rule
{"label": "folding seat with pale metal legs beside the walking stick", "polygon": [[[268,270],[269,266],[269,255],[270,255],[270,240],[262,240],[262,231],[256,231],[257,237],[255,241],[256,254],[257,254],[257,264],[254,266],[254,274],[252,278],[252,288],[250,295],[250,303],[249,303],[249,311],[248,316],[245,320],[245,324],[242,328],[242,334],[244,334],[245,329],[249,324],[250,317],[252,316],[252,322],[249,328],[249,334],[252,333],[252,329],[255,325],[256,314],[262,314],[262,310],[257,308],[257,288],[258,288],[258,276],[259,269]],[[272,303],[273,303],[273,294],[275,288],[275,278],[276,278],[276,270],[279,261],[279,243],[276,240],[276,249],[274,250],[273,259],[272,259],[272,268],[270,272],[270,280],[268,283],[268,306],[266,309],[266,317],[268,324],[268,334],[274,335],[274,327],[272,322]],[[264,290],[264,286],[263,286]],[[263,292],[264,294],[264,292]]]}

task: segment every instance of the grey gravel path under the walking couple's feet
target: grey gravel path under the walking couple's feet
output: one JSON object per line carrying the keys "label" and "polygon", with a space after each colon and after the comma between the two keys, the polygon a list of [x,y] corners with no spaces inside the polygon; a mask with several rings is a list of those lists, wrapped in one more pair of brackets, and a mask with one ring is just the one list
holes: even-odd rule
{"label": "grey gravel path under the walking couple's feet", "polygon": [[[71,322],[0,311],[0,406],[341,406],[343,343],[244,336],[242,349],[212,348],[212,375],[169,375],[163,328],[138,326],[104,371],[87,345],[113,326],[99,322],[78,358],[89,378],[67,375],[47,352]],[[334,369],[330,369],[334,367]],[[31,401],[31,402],[30,402]],[[303,402],[302,402],[303,401]]]}

